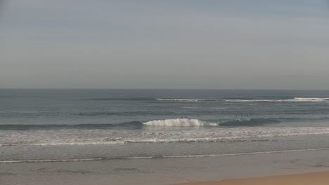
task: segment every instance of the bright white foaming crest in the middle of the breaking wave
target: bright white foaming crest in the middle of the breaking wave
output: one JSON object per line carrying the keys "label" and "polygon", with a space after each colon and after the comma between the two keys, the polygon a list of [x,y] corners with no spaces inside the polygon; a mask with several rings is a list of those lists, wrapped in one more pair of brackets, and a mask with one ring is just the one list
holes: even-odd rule
{"label": "bright white foaming crest in the middle of the breaking wave", "polygon": [[168,127],[190,127],[190,126],[203,126],[204,123],[198,119],[166,119],[166,120],[154,120],[143,123],[144,125],[151,126],[168,126]]}

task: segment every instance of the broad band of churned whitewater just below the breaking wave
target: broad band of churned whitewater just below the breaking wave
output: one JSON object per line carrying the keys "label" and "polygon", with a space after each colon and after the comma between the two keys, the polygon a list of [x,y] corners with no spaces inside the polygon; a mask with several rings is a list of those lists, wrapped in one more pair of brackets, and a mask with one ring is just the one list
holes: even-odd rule
{"label": "broad band of churned whitewater just below the breaking wave", "polygon": [[[270,128],[205,127],[202,129],[178,130],[56,130],[33,132],[13,132],[0,139],[0,146],[57,146],[57,145],[95,145],[130,143],[198,143],[198,142],[252,142],[253,140],[271,141],[275,137],[299,135],[328,135],[328,127]],[[100,137],[106,135],[111,137]],[[265,140],[264,140],[265,139]]]}

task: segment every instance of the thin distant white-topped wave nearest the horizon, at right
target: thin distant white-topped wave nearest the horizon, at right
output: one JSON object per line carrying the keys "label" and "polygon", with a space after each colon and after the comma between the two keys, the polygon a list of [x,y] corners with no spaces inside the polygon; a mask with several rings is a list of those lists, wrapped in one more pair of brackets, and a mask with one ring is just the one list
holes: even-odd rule
{"label": "thin distant white-topped wave nearest the horizon, at right", "polygon": [[329,102],[329,97],[294,97],[290,99],[185,99],[185,98],[157,98],[158,101],[168,102]]}

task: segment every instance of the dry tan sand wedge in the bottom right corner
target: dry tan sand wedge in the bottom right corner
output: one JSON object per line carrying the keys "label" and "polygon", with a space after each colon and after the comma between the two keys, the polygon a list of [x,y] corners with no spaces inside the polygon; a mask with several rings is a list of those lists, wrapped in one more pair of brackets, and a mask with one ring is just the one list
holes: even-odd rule
{"label": "dry tan sand wedge in the bottom right corner", "polygon": [[181,185],[326,185],[329,184],[329,172],[313,172],[307,174],[290,174],[273,177],[258,177],[250,179],[226,179],[212,182],[191,182]]}

